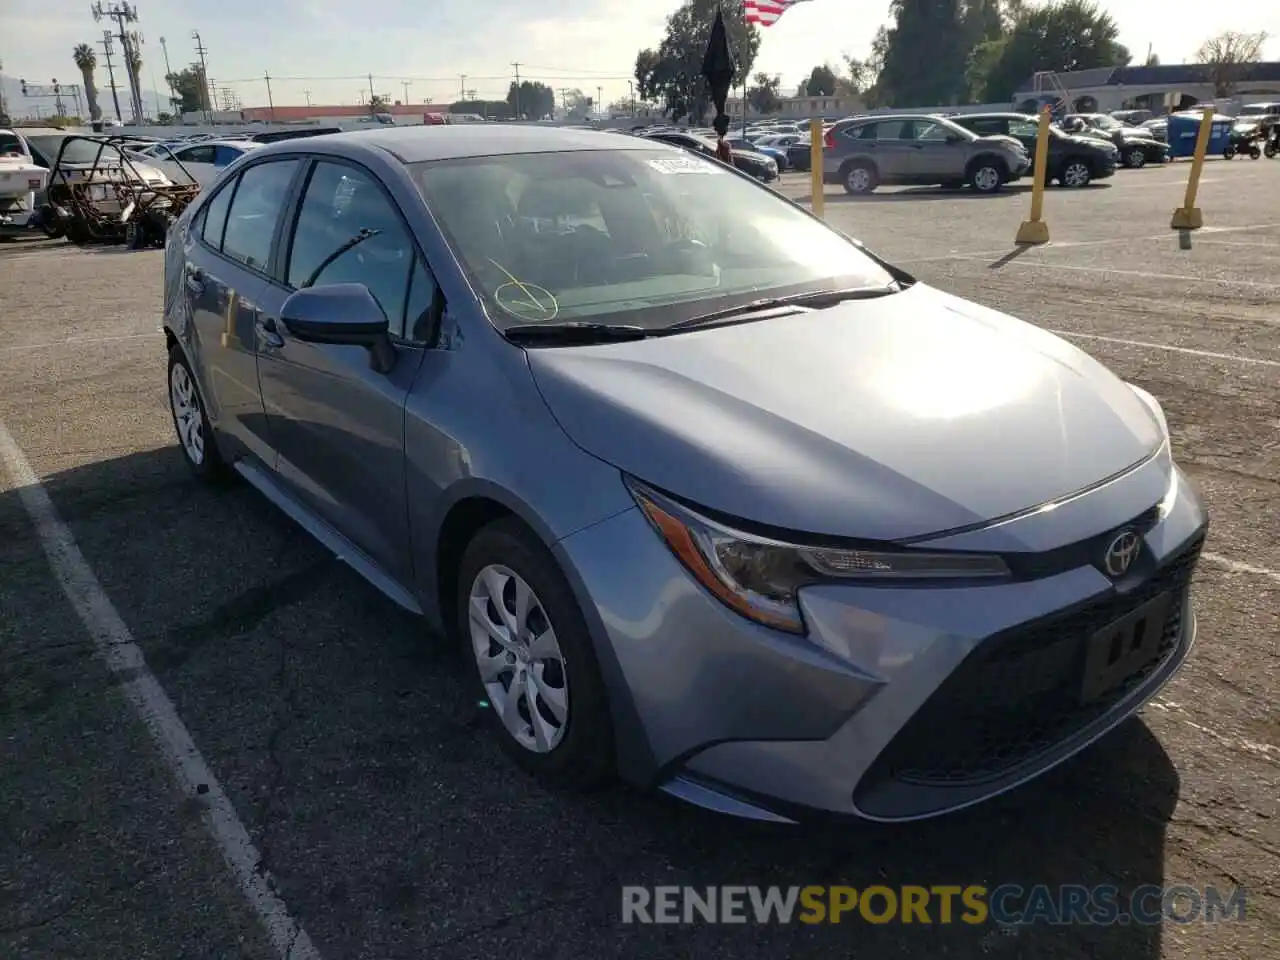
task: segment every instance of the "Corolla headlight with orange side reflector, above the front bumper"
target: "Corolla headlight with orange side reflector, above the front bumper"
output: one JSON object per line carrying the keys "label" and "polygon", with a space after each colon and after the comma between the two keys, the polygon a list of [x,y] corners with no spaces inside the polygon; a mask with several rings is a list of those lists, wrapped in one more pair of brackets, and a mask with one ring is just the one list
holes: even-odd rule
{"label": "Corolla headlight with orange side reflector, above the front bumper", "polygon": [[1000,557],[805,547],[733,530],[644,484],[627,486],[671,552],[707,590],[737,613],[804,634],[797,595],[832,581],[986,580],[1009,576]]}

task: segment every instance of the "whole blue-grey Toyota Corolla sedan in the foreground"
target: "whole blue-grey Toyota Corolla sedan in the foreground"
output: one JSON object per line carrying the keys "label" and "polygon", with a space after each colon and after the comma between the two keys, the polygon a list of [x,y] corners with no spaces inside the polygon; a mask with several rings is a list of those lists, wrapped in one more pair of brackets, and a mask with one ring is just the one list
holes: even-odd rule
{"label": "whole blue-grey Toyota Corolla sedan in the foreground", "polygon": [[1194,639],[1207,516],[1153,397],[673,147],[266,146],[170,232],[164,311],[195,472],[452,637],[550,783],[941,814]]}

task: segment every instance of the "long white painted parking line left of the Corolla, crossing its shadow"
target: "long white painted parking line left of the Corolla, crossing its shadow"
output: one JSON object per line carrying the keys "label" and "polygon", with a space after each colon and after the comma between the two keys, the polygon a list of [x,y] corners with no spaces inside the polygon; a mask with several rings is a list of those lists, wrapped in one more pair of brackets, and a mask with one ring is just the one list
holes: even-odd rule
{"label": "long white painted parking line left of the Corolla, crossing its shadow", "polygon": [[285,960],[320,960],[302,925],[273,890],[270,874],[236,808],[200,755],[173,701],[147,667],[142,650],[102,590],[72,531],[4,422],[0,422],[0,465],[9,474],[63,593],[93,639],[99,654],[116,676],[166,765],[187,797],[202,809],[205,826],[221,849],[241,893],[266,927]]}

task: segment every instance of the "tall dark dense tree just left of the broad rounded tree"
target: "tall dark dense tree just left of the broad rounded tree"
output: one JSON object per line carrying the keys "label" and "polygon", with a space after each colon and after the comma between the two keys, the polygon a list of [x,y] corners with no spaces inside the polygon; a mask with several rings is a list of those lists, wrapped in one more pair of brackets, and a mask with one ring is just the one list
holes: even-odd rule
{"label": "tall dark dense tree just left of the broad rounded tree", "polygon": [[965,99],[972,50],[960,0],[893,0],[878,84],[893,106],[950,105]]}

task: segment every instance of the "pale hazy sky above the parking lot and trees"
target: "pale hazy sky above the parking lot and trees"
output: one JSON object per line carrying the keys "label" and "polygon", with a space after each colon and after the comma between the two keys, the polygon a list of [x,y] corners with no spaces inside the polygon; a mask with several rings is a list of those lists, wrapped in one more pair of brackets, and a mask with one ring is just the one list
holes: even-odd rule
{"label": "pale hazy sky above the parking lot and trees", "polygon": [[[110,5],[110,0],[106,5]],[[145,87],[164,88],[165,37],[175,70],[196,59],[192,31],[207,47],[209,76],[243,106],[355,104],[374,92],[406,102],[449,102],[460,91],[504,99],[520,63],[524,79],[580,88],[605,102],[628,96],[636,51],[657,46],[678,0],[140,0]],[[1266,31],[1267,59],[1280,59],[1280,4],[1217,0],[1210,8],[1161,0],[1108,0],[1120,41],[1140,60],[1148,45],[1162,63],[1192,60],[1201,41],[1226,29]],[[781,74],[792,93],[820,63],[867,54],[887,19],[887,0],[867,6],[810,0],[763,31],[756,70]],[[861,10],[859,20],[856,12]],[[101,40],[90,0],[0,0],[0,73],[49,83],[78,82],[70,52]],[[116,45],[118,47],[119,45]],[[466,79],[462,79],[466,74]],[[154,79],[152,79],[154,77]],[[403,86],[408,82],[410,86]],[[106,70],[99,55],[99,86]]]}

